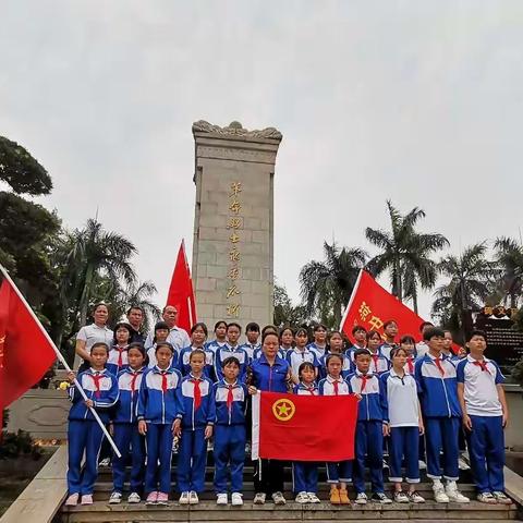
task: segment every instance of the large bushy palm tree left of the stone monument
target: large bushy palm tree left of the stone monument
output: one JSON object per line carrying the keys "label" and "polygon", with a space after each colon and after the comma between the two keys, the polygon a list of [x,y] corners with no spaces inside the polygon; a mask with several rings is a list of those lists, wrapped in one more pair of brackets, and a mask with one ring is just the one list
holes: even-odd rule
{"label": "large bushy palm tree left of the stone monument", "polygon": [[70,302],[77,300],[80,326],[85,325],[89,303],[96,295],[100,277],[107,277],[117,291],[120,281],[134,284],[136,275],[130,258],[136,247],[126,238],[115,232],[105,231],[101,223],[89,219],[84,229],[66,233],[62,253],[64,279],[62,289]]}

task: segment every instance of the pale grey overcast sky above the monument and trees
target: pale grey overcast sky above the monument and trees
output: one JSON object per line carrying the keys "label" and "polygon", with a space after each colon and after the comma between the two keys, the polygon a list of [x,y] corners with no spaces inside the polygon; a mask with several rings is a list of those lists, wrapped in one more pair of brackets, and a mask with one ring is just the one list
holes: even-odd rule
{"label": "pale grey overcast sky above the monument and trees", "polygon": [[192,122],[278,127],[275,273],[297,300],[324,240],[369,248],[387,198],[454,253],[519,238],[522,64],[519,0],[0,0],[0,135],[65,226],[98,209],[136,244],[161,304],[192,252]]}

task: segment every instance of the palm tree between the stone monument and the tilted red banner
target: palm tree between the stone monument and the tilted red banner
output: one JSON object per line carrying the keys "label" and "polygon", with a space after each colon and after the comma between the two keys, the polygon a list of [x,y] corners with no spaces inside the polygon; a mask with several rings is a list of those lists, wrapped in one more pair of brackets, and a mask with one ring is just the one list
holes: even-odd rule
{"label": "palm tree between the stone monument and the tilted red banner", "polygon": [[367,254],[361,248],[340,250],[336,242],[325,242],[324,255],[324,262],[309,262],[300,271],[300,293],[307,314],[324,312],[324,316],[327,308],[332,314],[329,323],[338,327]]}

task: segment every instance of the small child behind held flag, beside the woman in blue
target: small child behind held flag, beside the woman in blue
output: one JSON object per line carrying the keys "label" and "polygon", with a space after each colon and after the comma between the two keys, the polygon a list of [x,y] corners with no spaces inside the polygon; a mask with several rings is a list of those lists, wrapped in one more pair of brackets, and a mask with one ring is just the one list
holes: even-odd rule
{"label": "small child behind held flag, beside the woman in blue", "polygon": [[[300,396],[318,396],[316,386],[316,367],[311,362],[304,362],[297,370],[300,382],[293,392]],[[292,487],[296,503],[320,503],[318,491],[318,464],[311,461],[292,463]]]}

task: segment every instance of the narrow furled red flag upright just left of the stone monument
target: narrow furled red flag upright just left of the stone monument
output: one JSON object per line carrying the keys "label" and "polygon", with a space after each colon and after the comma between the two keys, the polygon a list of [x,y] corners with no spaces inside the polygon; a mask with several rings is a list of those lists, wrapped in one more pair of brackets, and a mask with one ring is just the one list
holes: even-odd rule
{"label": "narrow furled red flag upright just left of the stone monument", "polygon": [[178,252],[177,265],[174,266],[167,296],[167,305],[177,307],[177,326],[185,329],[187,333],[191,332],[191,327],[196,323],[196,301],[194,300],[193,280],[188,270],[183,240]]}

